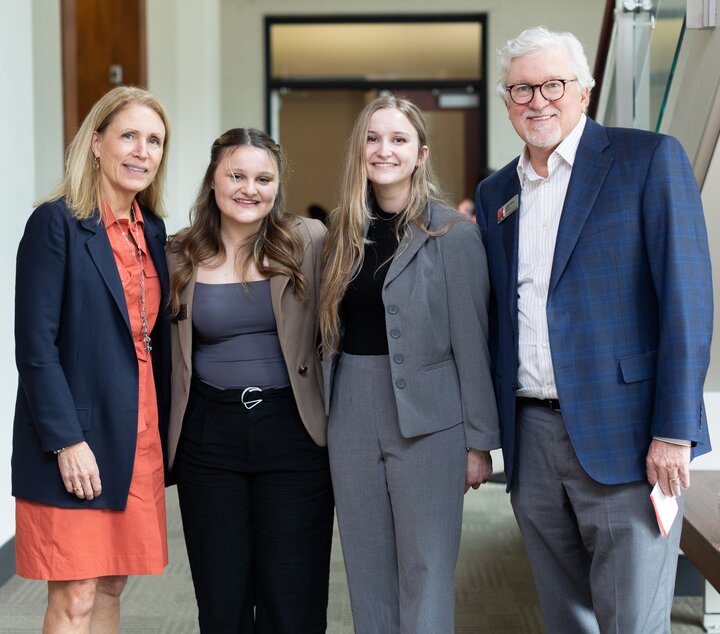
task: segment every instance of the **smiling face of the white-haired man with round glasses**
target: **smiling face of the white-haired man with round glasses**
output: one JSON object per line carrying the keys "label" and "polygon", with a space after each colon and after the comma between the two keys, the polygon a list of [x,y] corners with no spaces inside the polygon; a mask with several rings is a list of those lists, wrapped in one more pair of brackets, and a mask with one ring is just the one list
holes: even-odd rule
{"label": "smiling face of the white-haired man with round glasses", "polygon": [[[516,57],[510,64],[507,85],[542,84],[548,79],[575,79],[568,54],[549,49]],[[588,91],[580,91],[577,82],[568,83],[565,94],[557,101],[548,101],[535,89],[532,101],[519,106],[505,101],[515,131],[527,143],[530,153],[549,156],[572,132],[588,106]]]}

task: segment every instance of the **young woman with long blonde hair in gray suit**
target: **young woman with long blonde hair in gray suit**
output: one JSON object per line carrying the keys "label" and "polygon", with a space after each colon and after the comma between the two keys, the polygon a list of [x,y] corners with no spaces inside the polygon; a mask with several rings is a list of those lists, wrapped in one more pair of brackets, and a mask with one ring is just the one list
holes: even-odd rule
{"label": "young woman with long blonde hair in gray suit", "polygon": [[380,97],[350,139],[320,304],[330,468],[355,631],[451,634],[463,494],[499,446],[476,226],[426,126]]}

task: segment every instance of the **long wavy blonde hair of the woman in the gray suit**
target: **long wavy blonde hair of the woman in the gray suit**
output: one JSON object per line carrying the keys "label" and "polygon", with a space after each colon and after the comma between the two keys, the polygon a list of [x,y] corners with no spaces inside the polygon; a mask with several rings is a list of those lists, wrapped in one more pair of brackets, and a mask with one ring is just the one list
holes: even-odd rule
{"label": "long wavy blonde hair of the woman in the gray suit", "polygon": [[[371,101],[355,121],[340,181],[340,202],[329,216],[328,238],[323,249],[323,288],[319,303],[320,335],[323,354],[337,351],[339,307],[347,286],[362,267],[365,253],[365,225],[372,217],[374,198],[365,165],[370,119],[378,110],[394,109],[404,114],[418,135],[418,158],[427,146],[427,125],[420,109],[404,97],[387,95]],[[424,216],[430,198],[443,199],[429,156],[412,174],[410,196],[405,209],[398,212],[398,240],[417,228],[432,236],[446,233],[449,226],[430,231]]]}

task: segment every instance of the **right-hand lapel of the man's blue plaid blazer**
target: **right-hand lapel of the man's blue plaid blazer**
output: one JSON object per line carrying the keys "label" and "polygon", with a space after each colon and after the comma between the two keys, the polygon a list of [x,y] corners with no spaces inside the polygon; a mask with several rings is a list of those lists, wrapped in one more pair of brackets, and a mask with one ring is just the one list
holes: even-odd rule
{"label": "right-hand lapel of the man's blue plaid blazer", "polygon": [[587,217],[595,205],[600,188],[605,182],[612,164],[612,157],[604,153],[608,145],[604,128],[588,119],[575,155],[572,175],[565,195],[548,295],[552,294],[565,270]]}

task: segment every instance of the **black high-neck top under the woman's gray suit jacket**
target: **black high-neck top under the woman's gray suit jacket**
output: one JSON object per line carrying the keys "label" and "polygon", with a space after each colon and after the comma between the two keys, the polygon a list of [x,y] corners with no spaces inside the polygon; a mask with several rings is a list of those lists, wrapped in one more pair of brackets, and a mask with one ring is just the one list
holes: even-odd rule
{"label": "black high-neck top under the woman's gray suit jacket", "polygon": [[398,214],[387,213],[375,204],[360,272],[348,285],[341,303],[345,333],[342,351],[348,354],[387,354],[385,307],[382,287],[398,241]]}

